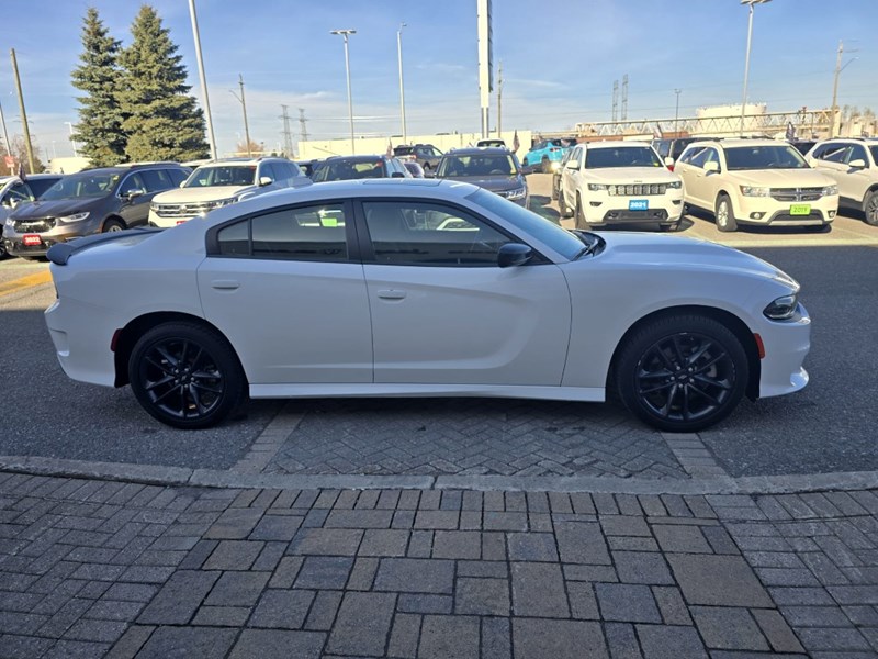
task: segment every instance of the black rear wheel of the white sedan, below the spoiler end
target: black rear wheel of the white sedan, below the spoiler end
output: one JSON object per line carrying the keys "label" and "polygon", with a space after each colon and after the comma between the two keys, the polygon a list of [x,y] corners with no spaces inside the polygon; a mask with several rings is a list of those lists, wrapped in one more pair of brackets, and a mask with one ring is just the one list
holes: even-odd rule
{"label": "black rear wheel of the white sedan, below the spoiler end", "polygon": [[214,426],[246,401],[247,379],[234,350],[194,323],[146,332],[128,359],[128,379],[144,410],[176,428]]}

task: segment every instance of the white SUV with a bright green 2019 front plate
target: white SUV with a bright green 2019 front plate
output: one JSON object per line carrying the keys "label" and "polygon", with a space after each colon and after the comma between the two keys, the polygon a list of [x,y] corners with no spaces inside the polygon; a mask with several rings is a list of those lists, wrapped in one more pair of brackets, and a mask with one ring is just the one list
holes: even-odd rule
{"label": "white SUV with a bright green 2019 front plate", "polygon": [[686,147],[674,171],[686,205],[713,213],[717,228],[739,224],[828,227],[838,212],[838,187],[786,142],[720,139]]}

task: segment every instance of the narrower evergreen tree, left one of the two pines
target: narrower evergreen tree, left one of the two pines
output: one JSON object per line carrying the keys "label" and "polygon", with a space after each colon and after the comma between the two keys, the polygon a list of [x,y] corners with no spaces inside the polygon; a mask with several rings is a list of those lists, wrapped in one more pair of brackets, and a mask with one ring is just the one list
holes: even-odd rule
{"label": "narrower evergreen tree, left one of the two pines", "polygon": [[72,72],[74,87],[86,96],[77,98],[79,123],[71,137],[81,145],[82,155],[98,167],[125,159],[126,137],[116,97],[119,48],[120,42],[108,34],[98,10],[89,8],[82,21],[81,64]]}

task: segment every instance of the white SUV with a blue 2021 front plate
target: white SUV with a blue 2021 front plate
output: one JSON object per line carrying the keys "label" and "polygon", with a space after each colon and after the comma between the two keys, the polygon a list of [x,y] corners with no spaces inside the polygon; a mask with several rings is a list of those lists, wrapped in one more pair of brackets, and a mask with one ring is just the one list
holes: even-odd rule
{"label": "white SUV with a blue 2021 front plate", "polygon": [[558,206],[576,217],[576,228],[649,223],[673,231],[683,215],[683,183],[649,144],[577,144],[561,172]]}

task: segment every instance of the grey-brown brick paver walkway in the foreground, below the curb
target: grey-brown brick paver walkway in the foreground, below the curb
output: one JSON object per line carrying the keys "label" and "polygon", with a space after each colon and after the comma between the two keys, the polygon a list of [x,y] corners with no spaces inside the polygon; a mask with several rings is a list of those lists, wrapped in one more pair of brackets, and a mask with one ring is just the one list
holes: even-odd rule
{"label": "grey-brown brick paver walkway in the foreground, below the curb", "polygon": [[0,657],[875,657],[876,515],[0,473]]}

